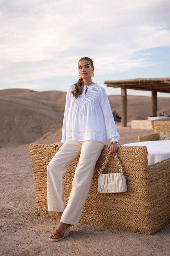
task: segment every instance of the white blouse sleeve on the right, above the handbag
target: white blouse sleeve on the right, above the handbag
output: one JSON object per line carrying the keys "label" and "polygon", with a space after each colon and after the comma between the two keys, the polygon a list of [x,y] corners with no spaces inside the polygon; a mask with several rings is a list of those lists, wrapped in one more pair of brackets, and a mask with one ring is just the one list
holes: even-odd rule
{"label": "white blouse sleeve on the right, above the handbag", "polygon": [[110,142],[119,141],[120,135],[116,130],[116,124],[115,124],[110,103],[104,88],[102,89],[101,93],[102,93],[101,105],[102,105],[102,112],[103,112],[104,121],[105,121],[106,137],[107,139],[110,140]]}

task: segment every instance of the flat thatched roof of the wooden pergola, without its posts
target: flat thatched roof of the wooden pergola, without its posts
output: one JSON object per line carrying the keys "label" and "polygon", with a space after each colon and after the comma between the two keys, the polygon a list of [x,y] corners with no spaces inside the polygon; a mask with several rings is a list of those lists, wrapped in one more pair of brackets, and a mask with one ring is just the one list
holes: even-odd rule
{"label": "flat thatched roof of the wooden pergola, without its posts", "polygon": [[104,82],[108,87],[170,93],[170,78],[135,78]]}

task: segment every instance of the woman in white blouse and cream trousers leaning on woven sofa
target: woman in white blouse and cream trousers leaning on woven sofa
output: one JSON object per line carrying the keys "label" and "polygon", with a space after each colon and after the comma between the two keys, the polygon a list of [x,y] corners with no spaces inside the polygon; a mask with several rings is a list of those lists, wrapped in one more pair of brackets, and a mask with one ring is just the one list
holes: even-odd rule
{"label": "woman in white blouse and cream trousers leaning on woven sofa", "polygon": [[[92,82],[92,59],[81,58],[78,71],[80,78],[66,95],[62,140],[53,144],[57,153],[47,166],[48,211],[58,213],[58,226],[50,235],[50,241],[62,240],[69,235],[69,228],[79,223],[105,137],[111,142],[107,147],[110,153],[116,154],[119,145],[119,133],[105,89]],[[66,206],[63,176],[78,155],[80,159]]]}

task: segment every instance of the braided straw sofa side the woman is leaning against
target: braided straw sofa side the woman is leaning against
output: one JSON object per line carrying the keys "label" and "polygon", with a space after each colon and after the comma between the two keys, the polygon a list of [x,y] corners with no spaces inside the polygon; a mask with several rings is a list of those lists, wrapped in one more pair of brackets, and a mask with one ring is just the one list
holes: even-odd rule
{"label": "braided straw sofa side the woman is leaning against", "polygon": [[[47,164],[55,151],[50,144],[30,144],[36,190],[36,215],[57,217],[47,212]],[[98,170],[105,161],[107,146],[96,162],[92,184],[81,216],[81,223],[154,234],[170,221],[170,158],[148,166],[145,146],[120,146],[118,157],[126,174],[128,191],[117,194],[98,193]],[[66,172],[65,202],[69,199],[78,159]],[[117,162],[110,155],[104,173],[117,172]]]}

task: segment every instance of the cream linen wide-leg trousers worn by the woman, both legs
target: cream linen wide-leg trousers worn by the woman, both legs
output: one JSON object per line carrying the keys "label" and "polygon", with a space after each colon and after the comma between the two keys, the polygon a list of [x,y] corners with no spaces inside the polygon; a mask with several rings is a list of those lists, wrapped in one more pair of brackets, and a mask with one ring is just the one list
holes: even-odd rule
{"label": "cream linen wide-leg trousers worn by the woman, both legs", "polygon": [[[61,222],[77,225],[92,182],[96,161],[104,143],[96,140],[67,139],[47,166],[48,211],[63,212]],[[80,155],[72,181],[69,201],[64,203],[63,177],[68,167]]]}

